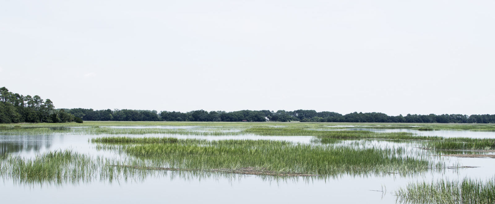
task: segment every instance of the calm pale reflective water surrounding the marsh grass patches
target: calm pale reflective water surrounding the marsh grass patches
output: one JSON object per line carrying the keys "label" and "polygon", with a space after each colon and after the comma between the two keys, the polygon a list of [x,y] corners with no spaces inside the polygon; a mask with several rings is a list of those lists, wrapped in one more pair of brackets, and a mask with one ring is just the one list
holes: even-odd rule
{"label": "calm pale reflective water surrounding the marsh grass patches", "polygon": [[[167,127],[163,127],[167,128]],[[181,127],[184,128],[184,127]],[[192,127],[191,129],[198,129]],[[410,131],[409,129],[366,129],[377,132]],[[470,131],[418,131],[420,133],[444,137],[488,137],[495,138],[493,132]],[[54,150],[71,149],[91,155],[115,156],[112,153],[95,149],[95,144],[88,142],[94,137],[105,135],[0,135],[0,155],[22,155],[33,157],[37,153]],[[115,136],[115,135],[113,135]],[[185,136],[185,135],[138,135],[137,137],[172,136],[177,138],[202,138],[208,140],[222,139],[267,139],[288,140],[311,143],[309,136]],[[433,135],[432,135],[433,136]],[[362,146],[397,147],[408,151],[429,153],[417,149],[419,142],[393,143],[379,140],[344,141]],[[437,159],[432,156],[432,159]],[[443,172],[427,172],[422,175],[401,177],[396,174],[387,176],[349,176],[338,178],[288,178],[273,179],[254,175],[230,175],[198,177],[194,175],[177,175],[168,172],[161,176],[148,176],[144,181],[91,182],[63,185],[22,185],[3,178],[0,184],[2,203],[367,203],[394,204],[396,197],[391,195],[398,187],[409,182],[432,181],[439,178],[491,178],[494,176],[495,160],[491,158],[456,158],[442,157],[447,163],[460,162],[465,166],[480,166],[459,170],[447,169]],[[382,190],[385,186],[387,192]]]}

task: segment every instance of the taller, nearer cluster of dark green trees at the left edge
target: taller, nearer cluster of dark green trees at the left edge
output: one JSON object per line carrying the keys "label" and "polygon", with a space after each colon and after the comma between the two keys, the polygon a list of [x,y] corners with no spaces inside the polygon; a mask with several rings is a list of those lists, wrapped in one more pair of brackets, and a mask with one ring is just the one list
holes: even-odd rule
{"label": "taller, nearer cluster of dark green trees at the left edge", "polygon": [[57,110],[51,100],[36,95],[23,96],[0,88],[0,123],[18,122],[83,122],[81,118]]}

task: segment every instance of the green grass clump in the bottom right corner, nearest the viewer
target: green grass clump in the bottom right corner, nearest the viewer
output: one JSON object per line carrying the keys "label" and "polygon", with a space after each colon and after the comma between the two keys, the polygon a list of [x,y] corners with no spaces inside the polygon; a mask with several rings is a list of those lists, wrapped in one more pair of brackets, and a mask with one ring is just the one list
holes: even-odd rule
{"label": "green grass clump in the bottom right corner, nearest the viewer", "polygon": [[495,177],[488,181],[465,178],[432,183],[409,184],[395,192],[401,203],[493,204]]}

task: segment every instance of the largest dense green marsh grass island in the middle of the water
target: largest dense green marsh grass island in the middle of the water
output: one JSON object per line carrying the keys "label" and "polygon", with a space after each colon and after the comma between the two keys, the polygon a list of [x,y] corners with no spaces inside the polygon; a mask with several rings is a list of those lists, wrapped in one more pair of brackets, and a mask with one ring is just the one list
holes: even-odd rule
{"label": "largest dense green marsh grass island in the middle of the water", "polygon": [[271,140],[180,139],[177,143],[152,144],[136,141],[134,145],[122,145],[113,149],[143,159],[145,163],[140,164],[141,166],[174,169],[249,168],[285,174],[384,175],[388,172],[418,173],[432,166],[443,165],[429,162],[426,158],[402,156],[402,148],[356,149]]}

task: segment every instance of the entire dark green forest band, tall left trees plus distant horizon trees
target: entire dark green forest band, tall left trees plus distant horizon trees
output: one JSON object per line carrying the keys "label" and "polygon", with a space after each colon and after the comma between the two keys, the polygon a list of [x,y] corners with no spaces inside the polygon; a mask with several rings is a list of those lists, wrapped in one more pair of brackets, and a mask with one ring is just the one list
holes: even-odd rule
{"label": "entire dark green forest band, tall left trees plus distant horizon trees", "polygon": [[0,88],[0,123],[18,122],[83,122],[87,121],[300,121],[300,122],[396,122],[396,123],[495,123],[495,114],[485,115],[411,115],[389,116],[380,112],[353,112],[342,115],[337,112],[315,110],[239,110],[190,112],[156,110],[84,108],[55,109],[51,100],[39,96],[23,96]]}

